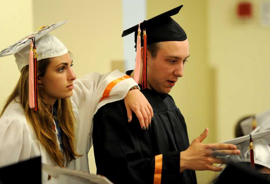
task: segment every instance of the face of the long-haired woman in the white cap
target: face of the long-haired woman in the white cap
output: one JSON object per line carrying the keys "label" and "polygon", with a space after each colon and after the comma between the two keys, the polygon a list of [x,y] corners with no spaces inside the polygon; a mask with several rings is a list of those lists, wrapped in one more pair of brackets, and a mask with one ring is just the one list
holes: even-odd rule
{"label": "face of the long-haired woman in the white cap", "polygon": [[76,79],[76,75],[71,69],[72,65],[69,53],[52,57],[44,76],[38,77],[38,84],[44,88],[43,99],[51,105],[57,98],[72,96],[73,80]]}

